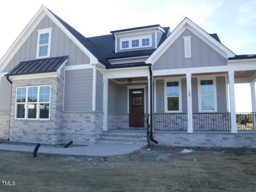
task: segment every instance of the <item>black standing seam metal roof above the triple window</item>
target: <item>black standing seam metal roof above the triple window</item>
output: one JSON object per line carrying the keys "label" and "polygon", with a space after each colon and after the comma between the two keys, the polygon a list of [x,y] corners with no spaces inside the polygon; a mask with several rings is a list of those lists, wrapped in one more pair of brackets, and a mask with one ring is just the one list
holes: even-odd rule
{"label": "black standing seam metal roof above the triple window", "polygon": [[22,61],[5,76],[56,72],[68,56]]}

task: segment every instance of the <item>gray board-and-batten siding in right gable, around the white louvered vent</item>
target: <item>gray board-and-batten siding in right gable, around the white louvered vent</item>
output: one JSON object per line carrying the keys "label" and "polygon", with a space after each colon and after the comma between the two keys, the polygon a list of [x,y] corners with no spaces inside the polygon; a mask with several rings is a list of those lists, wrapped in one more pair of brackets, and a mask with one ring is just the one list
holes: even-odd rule
{"label": "gray board-and-batten siding in right gable, around the white louvered vent", "polygon": [[[191,36],[191,58],[184,56],[183,37]],[[227,65],[227,59],[186,29],[153,64],[153,70]]]}

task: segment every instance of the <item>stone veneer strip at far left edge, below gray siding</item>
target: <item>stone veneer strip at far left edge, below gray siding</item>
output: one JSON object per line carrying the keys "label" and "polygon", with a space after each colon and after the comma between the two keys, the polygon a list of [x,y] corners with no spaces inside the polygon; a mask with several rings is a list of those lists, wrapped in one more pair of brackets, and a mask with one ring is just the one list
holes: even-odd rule
{"label": "stone veneer strip at far left edge, below gray siding", "polygon": [[9,138],[10,111],[0,111],[0,139]]}

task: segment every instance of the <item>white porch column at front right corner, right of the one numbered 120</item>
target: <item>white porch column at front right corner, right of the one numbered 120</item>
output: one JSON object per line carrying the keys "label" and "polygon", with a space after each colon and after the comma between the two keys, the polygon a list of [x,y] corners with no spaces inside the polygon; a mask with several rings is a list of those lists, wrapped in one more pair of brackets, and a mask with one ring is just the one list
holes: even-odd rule
{"label": "white porch column at front right corner, right of the one numbered 120", "polygon": [[231,133],[237,133],[234,71],[228,72]]}

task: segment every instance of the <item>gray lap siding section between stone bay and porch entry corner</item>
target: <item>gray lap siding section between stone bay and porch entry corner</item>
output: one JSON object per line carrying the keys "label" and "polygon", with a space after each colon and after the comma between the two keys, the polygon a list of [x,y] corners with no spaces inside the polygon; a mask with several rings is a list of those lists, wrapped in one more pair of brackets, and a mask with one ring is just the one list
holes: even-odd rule
{"label": "gray lap siding section between stone bay and porch entry corner", "polygon": [[92,111],[93,69],[65,72],[64,111]]}

